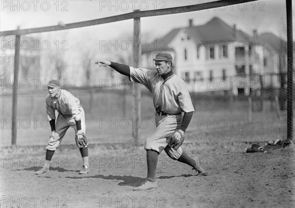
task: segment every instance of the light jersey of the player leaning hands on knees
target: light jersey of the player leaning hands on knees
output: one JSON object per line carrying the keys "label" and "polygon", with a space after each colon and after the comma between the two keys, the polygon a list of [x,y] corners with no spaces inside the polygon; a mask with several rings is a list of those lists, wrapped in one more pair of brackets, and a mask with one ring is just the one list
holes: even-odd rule
{"label": "light jersey of the player leaning hands on knees", "polygon": [[46,96],[46,112],[48,119],[56,119],[55,110],[67,119],[81,120],[80,100],[66,90],[60,90],[60,97]]}

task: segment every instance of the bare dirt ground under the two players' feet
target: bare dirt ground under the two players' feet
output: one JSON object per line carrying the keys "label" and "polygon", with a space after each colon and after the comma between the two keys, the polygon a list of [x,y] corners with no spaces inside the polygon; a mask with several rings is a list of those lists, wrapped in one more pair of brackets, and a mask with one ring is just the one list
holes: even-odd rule
{"label": "bare dirt ground under the two players' feet", "polygon": [[[208,141],[208,140],[206,140]],[[294,145],[269,153],[244,153],[249,144],[199,140],[183,144],[199,156],[209,176],[164,152],[158,188],[133,191],[147,174],[142,145],[90,145],[90,173],[75,146],[61,145],[49,172],[37,176],[45,147],[2,148],[1,208],[293,208]]]}

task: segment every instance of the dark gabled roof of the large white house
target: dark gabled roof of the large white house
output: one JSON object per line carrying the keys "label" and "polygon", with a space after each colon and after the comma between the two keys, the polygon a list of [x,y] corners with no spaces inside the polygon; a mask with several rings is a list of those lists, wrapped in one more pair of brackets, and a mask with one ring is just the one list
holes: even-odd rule
{"label": "dark gabled roof of the large white house", "polygon": [[155,48],[154,45],[150,44],[147,51],[168,49],[167,46],[177,36],[181,29],[183,29],[186,34],[190,35],[196,43],[198,43],[198,41],[251,41],[251,37],[245,32],[241,30],[236,30],[235,32],[235,27],[229,26],[218,17],[214,17],[202,26],[190,26],[172,29],[162,38],[156,40],[157,43],[160,43],[160,41],[165,41],[165,47],[161,47],[161,44],[157,44],[157,47]]}

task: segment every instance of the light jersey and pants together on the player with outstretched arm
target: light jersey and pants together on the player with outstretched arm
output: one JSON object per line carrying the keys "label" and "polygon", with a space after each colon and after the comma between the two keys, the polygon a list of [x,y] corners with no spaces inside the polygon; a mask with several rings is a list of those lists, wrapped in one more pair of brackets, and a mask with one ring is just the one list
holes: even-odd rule
{"label": "light jersey and pants together on the player with outstretched arm", "polygon": [[154,70],[133,67],[130,67],[130,80],[145,85],[153,95],[154,107],[168,114],[156,114],[157,128],[146,139],[145,150],[154,150],[159,154],[165,150],[168,156],[178,159],[182,154],[181,147],[174,150],[167,146],[166,137],[179,129],[183,112],[195,111],[185,82],[176,74],[164,81]]}

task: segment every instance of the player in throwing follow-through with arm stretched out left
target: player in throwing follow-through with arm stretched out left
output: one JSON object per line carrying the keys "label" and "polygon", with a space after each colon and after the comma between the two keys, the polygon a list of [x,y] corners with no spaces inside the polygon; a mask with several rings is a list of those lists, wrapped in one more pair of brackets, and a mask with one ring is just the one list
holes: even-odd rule
{"label": "player in throwing follow-through with arm stretched out left", "polygon": [[155,107],[156,130],[146,139],[148,176],[133,190],[157,188],[156,167],[158,155],[164,150],[169,157],[190,165],[197,174],[207,176],[196,156],[191,158],[180,147],[184,140],[184,132],[193,116],[194,107],[184,81],[172,71],[172,55],[158,53],[153,59],[156,71],[133,68],[124,64],[99,60],[100,66],[111,66],[131,81],[144,84],[153,95]]}

